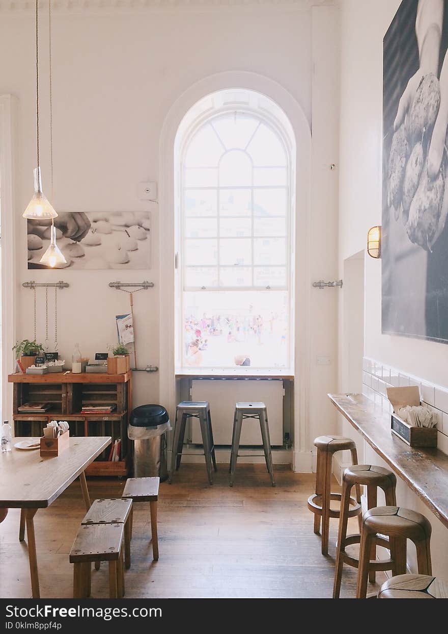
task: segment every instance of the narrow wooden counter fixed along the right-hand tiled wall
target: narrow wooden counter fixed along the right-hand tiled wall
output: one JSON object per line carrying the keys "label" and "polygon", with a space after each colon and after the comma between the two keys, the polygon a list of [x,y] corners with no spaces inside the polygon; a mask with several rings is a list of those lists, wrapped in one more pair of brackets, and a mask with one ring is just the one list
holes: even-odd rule
{"label": "narrow wooden counter fixed along the right-hand tiled wall", "polygon": [[363,394],[328,394],[328,398],[448,527],[448,456],[439,449],[409,447],[392,434],[390,414]]}

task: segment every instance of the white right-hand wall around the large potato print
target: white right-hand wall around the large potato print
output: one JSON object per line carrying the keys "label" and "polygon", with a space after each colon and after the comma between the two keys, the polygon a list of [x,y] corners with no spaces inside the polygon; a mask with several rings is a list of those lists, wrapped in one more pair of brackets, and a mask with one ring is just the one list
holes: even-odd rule
{"label": "white right-hand wall around the large potato print", "polygon": [[[340,2],[340,271],[347,257],[364,249],[368,228],[381,224],[382,42],[399,4]],[[366,257],[365,284],[365,355],[447,386],[448,346],[381,334],[381,261]],[[381,464],[371,450],[365,459]],[[433,572],[446,578],[446,529],[402,482],[397,498],[432,522]],[[413,557],[409,562],[413,566]]]}

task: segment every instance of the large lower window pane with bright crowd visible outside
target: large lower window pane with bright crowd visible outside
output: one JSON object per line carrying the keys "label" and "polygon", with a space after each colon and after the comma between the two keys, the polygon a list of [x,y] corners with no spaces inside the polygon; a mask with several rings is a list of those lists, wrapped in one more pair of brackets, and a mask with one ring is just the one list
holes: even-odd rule
{"label": "large lower window pane with bright crowd visible outside", "polygon": [[285,291],[186,292],[184,365],[285,368],[289,295]]}

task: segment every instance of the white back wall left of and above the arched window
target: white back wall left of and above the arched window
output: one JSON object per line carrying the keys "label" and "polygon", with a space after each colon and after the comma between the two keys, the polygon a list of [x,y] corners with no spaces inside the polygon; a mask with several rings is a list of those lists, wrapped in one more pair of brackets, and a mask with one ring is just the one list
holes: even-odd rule
{"label": "white back wall left of and above the arched window", "polygon": [[[304,10],[301,6],[306,7]],[[98,12],[97,12],[98,13]],[[99,12],[101,13],[101,11]],[[41,165],[49,195],[47,15],[41,11]],[[0,94],[18,98],[17,217],[32,194],[35,167],[34,15],[3,12],[0,22]],[[191,84],[225,70],[250,70],[282,84],[311,121],[311,10],[271,7],[208,11],[53,11],[54,207],[60,210],[147,209],[139,181],[158,180],[159,134],[166,112]],[[17,336],[32,337],[32,292],[22,281],[65,280],[59,292],[59,351],[74,342],[91,355],[115,341],[115,314],[128,308],[108,282],[158,281],[159,219],[151,205],[150,271],[27,271],[26,226],[20,219]],[[44,292],[37,337],[44,339]],[[159,359],[159,288],[135,295],[139,365]],[[51,324],[53,321],[51,321]],[[135,375],[134,403],[158,400],[158,375]]]}

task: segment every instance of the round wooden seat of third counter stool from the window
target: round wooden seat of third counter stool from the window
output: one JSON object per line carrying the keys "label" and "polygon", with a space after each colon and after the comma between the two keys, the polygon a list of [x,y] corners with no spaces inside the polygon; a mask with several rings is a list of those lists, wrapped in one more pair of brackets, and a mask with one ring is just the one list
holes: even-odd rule
{"label": "round wooden seat of third counter stool from the window", "polygon": [[409,508],[371,508],[364,514],[363,524],[370,533],[387,531],[391,537],[406,535],[409,540],[425,540],[431,535],[426,517]]}

